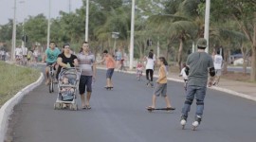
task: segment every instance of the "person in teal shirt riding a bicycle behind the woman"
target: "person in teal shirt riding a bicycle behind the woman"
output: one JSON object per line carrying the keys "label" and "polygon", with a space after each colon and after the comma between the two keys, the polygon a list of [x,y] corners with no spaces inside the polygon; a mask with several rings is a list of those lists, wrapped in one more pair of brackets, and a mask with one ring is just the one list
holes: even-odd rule
{"label": "person in teal shirt riding a bicycle behind the woman", "polygon": [[[46,62],[46,85],[49,83],[49,67],[50,65],[57,65],[57,58],[61,54],[61,51],[56,47],[55,42],[50,42],[49,47],[46,49],[43,61]],[[54,67],[55,69],[56,67]]]}

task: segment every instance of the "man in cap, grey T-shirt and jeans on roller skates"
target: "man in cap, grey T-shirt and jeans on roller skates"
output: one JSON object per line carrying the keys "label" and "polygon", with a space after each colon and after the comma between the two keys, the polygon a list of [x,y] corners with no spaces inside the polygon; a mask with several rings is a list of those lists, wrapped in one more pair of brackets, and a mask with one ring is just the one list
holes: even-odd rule
{"label": "man in cap, grey T-shirt and jeans on roller skates", "polygon": [[207,91],[208,72],[210,72],[209,86],[215,76],[215,69],[212,58],[205,52],[207,40],[200,38],[197,41],[197,52],[192,53],[187,59],[187,75],[189,75],[186,100],[182,109],[180,124],[184,128],[187,117],[191,110],[192,101],[196,99],[196,112],[194,122],[192,123],[195,129],[201,122],[204,111],[204,99]]}

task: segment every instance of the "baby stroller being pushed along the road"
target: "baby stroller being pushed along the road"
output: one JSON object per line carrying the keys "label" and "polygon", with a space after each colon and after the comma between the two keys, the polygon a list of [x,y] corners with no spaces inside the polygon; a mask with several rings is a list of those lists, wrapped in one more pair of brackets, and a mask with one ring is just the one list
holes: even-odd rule
{"label": "baby stroller being pushed along the road", "polygon": [[54,109],[69,107],[70,110],[78,110],[77,89],[82,70],[77,67],[62,68],[59,74],[58,97],[54,103]]}

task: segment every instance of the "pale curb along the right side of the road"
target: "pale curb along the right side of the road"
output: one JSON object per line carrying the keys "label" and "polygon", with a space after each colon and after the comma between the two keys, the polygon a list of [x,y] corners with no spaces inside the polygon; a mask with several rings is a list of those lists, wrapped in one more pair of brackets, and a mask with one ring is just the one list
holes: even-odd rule
{"label": "pale curb along the right side of the road", "polygon": [[[97,67],[97,68],[102,69],[102,70],[106,70],[106,68],[103,68],[103,67]],[[126,72],[123,72],[123,73],[136,74],[135,71],[126,71]],[[154,75],[154,77],[158,78],[157,75]],[[174,79],[174,78],[167,78],[167,80],[173,80],[173,81],[176,81],[176,82],[183,82],[183,80],[178,80],[178,79]],[[239,93],[239,92],[235,92],[235,91],[232,91],[232,90],[229,90],[229,89],[226,89],[226,88],[214,87],[214,86],[208,87],[208,88],[211,89],[211,90],[217,90],[217,91],[221,91],[221,92],[224,92],[224,93],[228,93],[229,95],[232,95],[232,96],[236,96],[236,97],[240,97],[240,98],[247,98],[249,100],[256,101],[255,97],[251,97],[249,95]]]}

